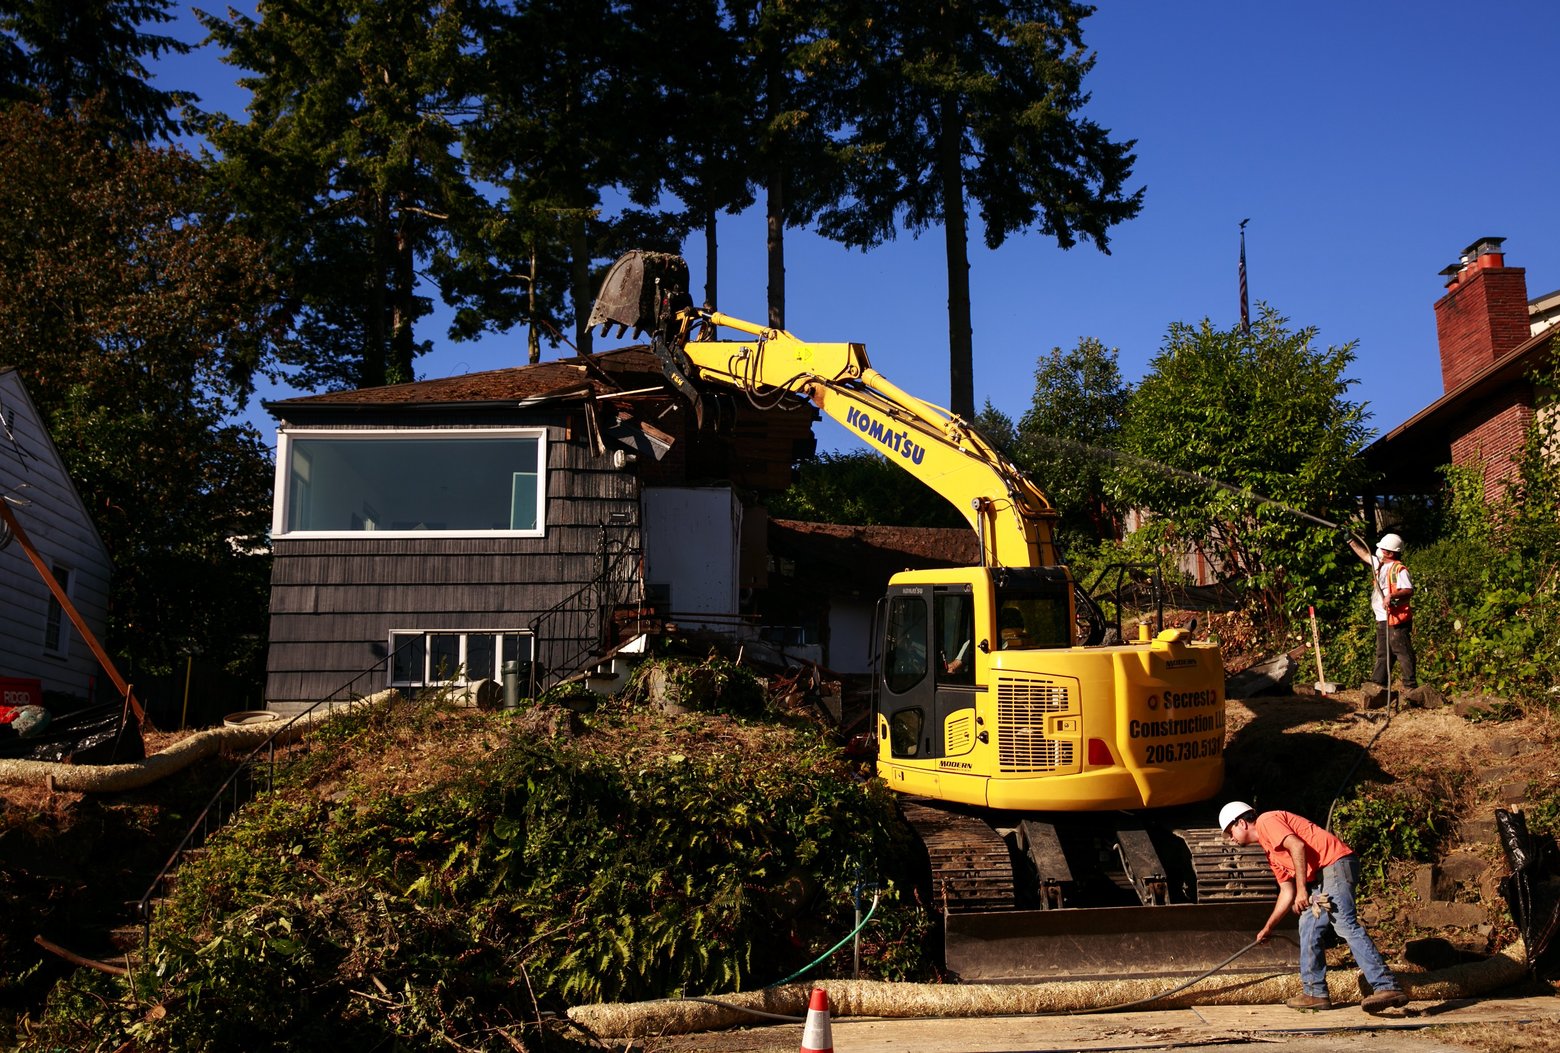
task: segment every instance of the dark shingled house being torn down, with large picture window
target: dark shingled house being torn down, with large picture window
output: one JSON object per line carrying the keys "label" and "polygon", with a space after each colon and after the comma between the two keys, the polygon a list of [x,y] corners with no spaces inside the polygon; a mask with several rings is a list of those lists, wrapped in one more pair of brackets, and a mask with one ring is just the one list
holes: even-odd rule
{"label": "dark shingled house being torn down, with large picture window", "polygon": [[817,420],[716,398],[699,424],[643,348],[265,407],[276,708],[507,661],[546,686],[641,629],[753,622],[755,509]]}

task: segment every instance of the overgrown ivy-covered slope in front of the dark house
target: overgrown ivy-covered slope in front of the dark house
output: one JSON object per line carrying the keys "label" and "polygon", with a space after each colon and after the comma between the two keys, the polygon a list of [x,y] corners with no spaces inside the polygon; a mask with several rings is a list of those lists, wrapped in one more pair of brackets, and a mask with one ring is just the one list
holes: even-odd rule
{"label": "overgrown ivy-covered slope in front of the dark house", "polygon": [[[850,933],[858,881],[883,888],[863,969],[922,975],[888,791],[699,669],[680,714],[630,691],[329,722],[179,870],[134,977],[76,973],[22,1048],[513,1050],[566,1005],[780,981]],[[849,942],[835,963],[808,975]]]}

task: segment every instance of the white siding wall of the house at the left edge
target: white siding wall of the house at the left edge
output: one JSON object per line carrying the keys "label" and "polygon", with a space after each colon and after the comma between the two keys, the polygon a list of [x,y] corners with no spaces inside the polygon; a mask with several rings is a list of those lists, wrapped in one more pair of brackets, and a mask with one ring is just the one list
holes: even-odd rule
{"label": "white siding wall of the house at the left edge", "polygon": [[[108,626],[108,549],[66,473],[59,452],[14,370],[0,370],[0,493],[48,566],[70,568],[70,601],[98,640]],[[42,682],[45,691],[89,697],[101,677],[81,633],[61,613],[62,652],[44,651],[48,585],[20,543],[0,551],[0,677]]]}

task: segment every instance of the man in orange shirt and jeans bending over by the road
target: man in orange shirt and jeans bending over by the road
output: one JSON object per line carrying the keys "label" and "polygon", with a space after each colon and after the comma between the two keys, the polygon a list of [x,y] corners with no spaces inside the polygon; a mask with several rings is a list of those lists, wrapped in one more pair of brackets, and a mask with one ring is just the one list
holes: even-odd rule
{"label": "man in orange shirt and jeans bending over by the road", "polygon": [[1236,844],[1260,844],[1278,878],[1278,902],[1257,933],[1265,944],[1273,927],[1290,911],[1299,914],[1299,981],[1303,994],[1287,1002],[1292,1009],[1331,1009],[1328,959],[1321,938],[1328,927],[1343,938],[1371,992],[1360,1002],[1365,1012],[1381,1012],[1409,1003],[1387,969],[1354,909],[1359,856],[1349,846],[1293,811],[1264,811],[1231,800],[1218,813],[1218,825]]}

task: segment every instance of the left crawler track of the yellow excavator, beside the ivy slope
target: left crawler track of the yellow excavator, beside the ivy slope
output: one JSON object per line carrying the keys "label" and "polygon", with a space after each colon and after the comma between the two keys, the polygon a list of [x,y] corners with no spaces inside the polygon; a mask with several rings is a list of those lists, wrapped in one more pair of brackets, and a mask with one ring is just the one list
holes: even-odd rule
{"label": "left crawler track of the yellow excavator, beside the ivy slope", "polygon": [[1008,842],[986,822],[916,800],[902,800],[931,860],[931,892],[945,914],[1011,911],[1012,860]]}

